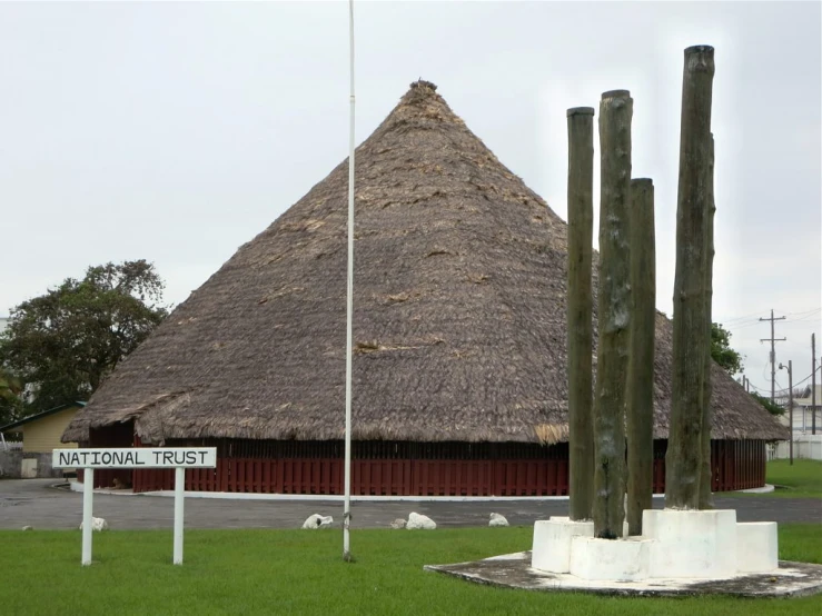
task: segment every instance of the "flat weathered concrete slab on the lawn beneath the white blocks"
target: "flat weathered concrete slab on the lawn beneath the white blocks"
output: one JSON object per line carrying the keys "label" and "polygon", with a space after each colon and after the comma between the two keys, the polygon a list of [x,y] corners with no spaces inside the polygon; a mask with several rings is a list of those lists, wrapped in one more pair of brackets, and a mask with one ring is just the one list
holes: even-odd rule
{"label": "flat weathered concrete slab on the lawn beneath the white blocks", "polygon": [[436,572],[477,584],[523,590],[586,592],[600,595],[672,597],[730,595],[735,597],[801,597],[822,593],[822,565],[780,560],[769,574],[737,575],[721,580],[664,579],[594,582],[531,567],[531,552],[494,556],[473,563],[426,565]]}

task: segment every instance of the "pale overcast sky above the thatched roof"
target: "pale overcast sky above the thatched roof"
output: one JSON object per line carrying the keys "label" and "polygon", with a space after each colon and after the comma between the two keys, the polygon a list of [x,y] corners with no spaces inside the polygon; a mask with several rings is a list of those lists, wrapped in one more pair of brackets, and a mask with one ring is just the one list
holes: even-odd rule
{"label": "pale overcast sky above the thatched roof", "polygon": [[[793,360],[794,381],[811,374],[820,3],[360,1],[355,13],[358,142],[428,79],[564,219],[566,108],[631,90],[669,315],[682,51],[714,46],[714,320],[770,390],[757,319],[775,309],[778,361]],[[347,156],[348,7],[3,2],[0,88],[0,316],[90,265],[139,258],[179,304]]]}

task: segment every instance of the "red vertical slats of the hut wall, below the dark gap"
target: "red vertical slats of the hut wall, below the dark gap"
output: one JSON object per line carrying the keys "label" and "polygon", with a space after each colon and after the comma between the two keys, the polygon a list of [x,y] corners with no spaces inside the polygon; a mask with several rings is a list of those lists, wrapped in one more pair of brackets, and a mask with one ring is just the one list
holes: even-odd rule
{"label": "red vertical slats of the hut wall, below the dark gap", "polygon": [[[567,453],[567,449],[564,450]],[[665,490],[665,443],[654,448],[653,491]],[[727,491],[765,480],[763,440],[714,440],[712,488]],[[217,468],[186,471],[186,489],[260,494],[343,494],[343,459],[218,457]],[[78,476],[81,471],[78,473]],[[103,471],[96,485],[110,485]],[[109,481],[108,484],[106,481]],[[174,470],[133,471],[133,490],[174,489]],[[410,496],[565,496],[567,456],[529,459],[358,458],[351,460],[351,494]]]}

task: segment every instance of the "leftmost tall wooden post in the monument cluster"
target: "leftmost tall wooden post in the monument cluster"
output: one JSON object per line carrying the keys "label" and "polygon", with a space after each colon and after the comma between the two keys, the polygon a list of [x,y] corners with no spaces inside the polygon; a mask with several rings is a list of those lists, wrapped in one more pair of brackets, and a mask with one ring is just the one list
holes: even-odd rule
{"label": "leftmost tall wooden post in the monument cluster", "polygon": [[568,109],[568,447],[570,516],[594,507],[591,259],[594,232],[594,108]]}

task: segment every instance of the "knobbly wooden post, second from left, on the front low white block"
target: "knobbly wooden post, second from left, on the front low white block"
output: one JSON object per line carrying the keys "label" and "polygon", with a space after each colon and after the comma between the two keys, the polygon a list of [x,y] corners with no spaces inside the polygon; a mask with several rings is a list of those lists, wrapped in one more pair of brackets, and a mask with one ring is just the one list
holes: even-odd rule
{"label": "knobbly wooden post, second from left, on the front low white block", "polygon": [[631,119],[627,90],[600,102],[600,324],[594,397],[594,535],[622,536],[625,519],[625,380],[631,325]]}

